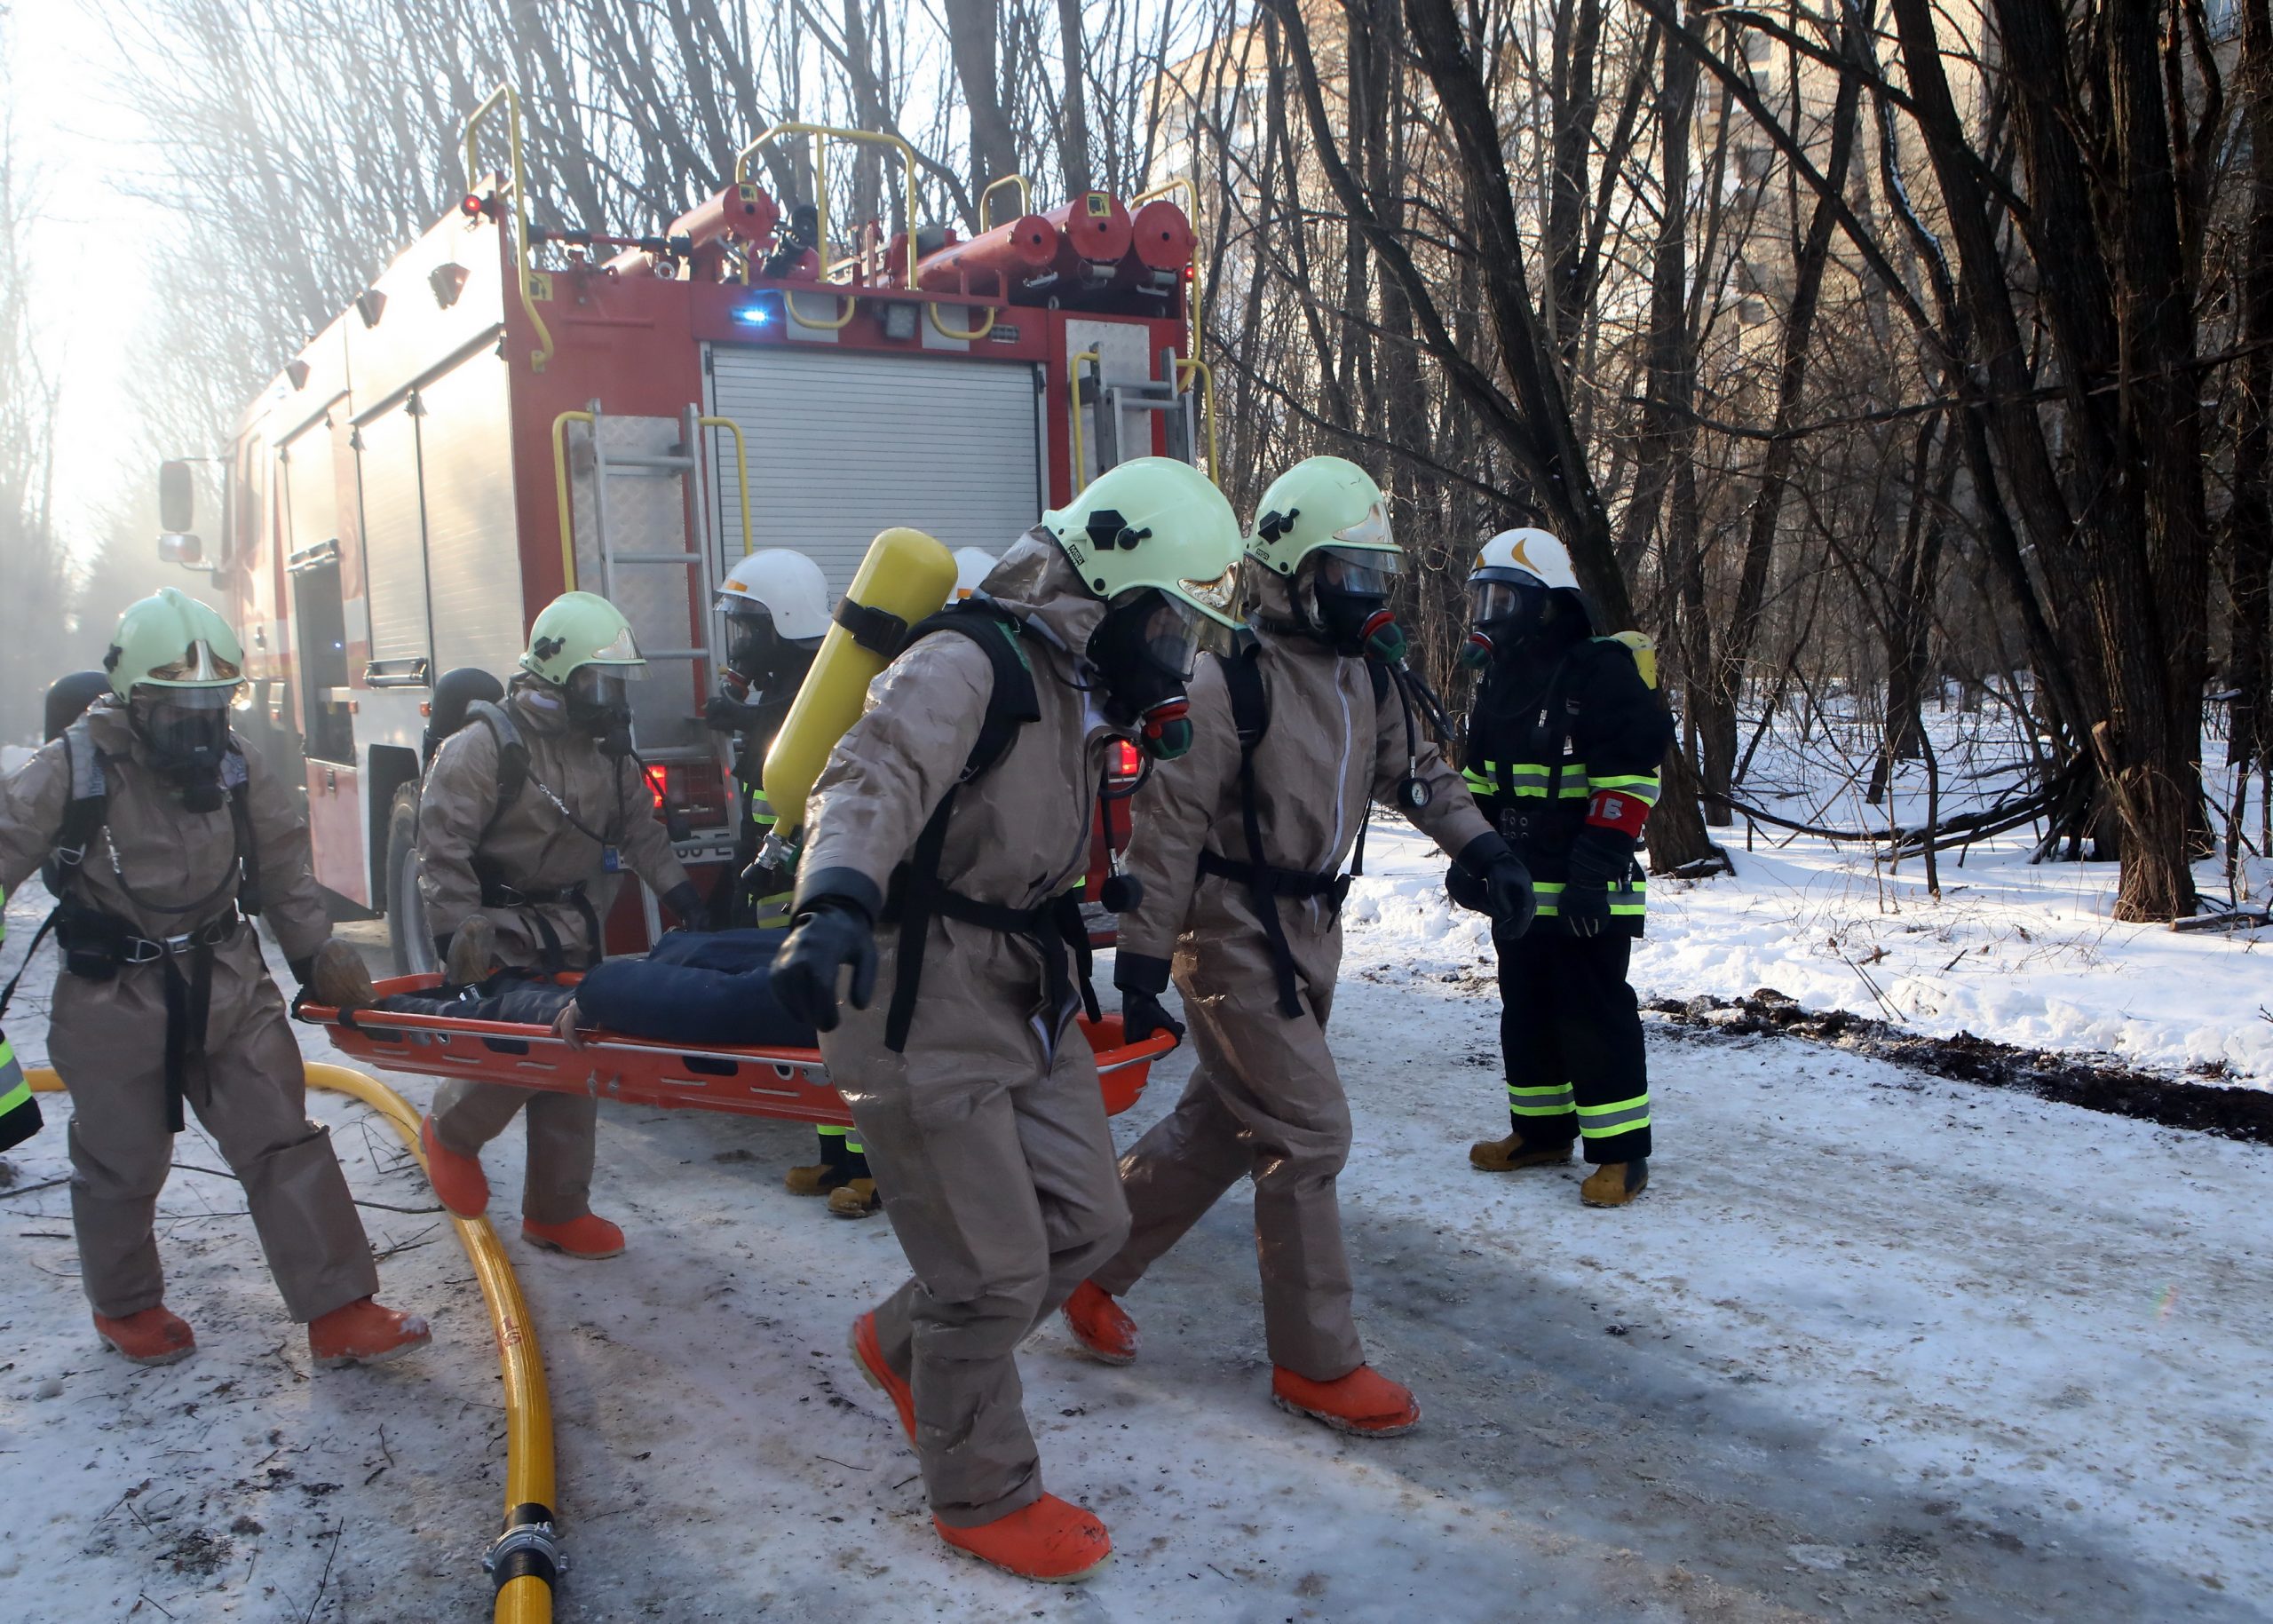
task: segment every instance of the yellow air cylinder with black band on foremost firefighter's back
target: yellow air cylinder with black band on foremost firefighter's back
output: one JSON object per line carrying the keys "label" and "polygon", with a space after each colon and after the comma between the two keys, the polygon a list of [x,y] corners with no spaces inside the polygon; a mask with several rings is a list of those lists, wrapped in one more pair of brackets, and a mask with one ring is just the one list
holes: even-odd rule
{"label": "yellow air cylinder with black band on foremost firefighter's back", "polygon": [[[875,616],[891,616],[905,630],[939,614],[952,591],[955,555],[921,530],[893,525],[868,544],[868,557],[859,562],[859,573],[846,591],[846,605],[852,605],[852,619],[868,610]],[[875,625],[889,632],[891,621],[877,619]],[[827,767],[830,751],[859,721],[868,685],[898,653],[884,648],[884,637],[866,641],[855,637],[843,607],[830,635],[821,639],[821,653],[814,655],[814,666],[789,703],[789,716],[773,735],[773,748],[766,751],[766,805],[780,819],[775,835],[782,839],[796,839],[805,823],[805,798]]]}

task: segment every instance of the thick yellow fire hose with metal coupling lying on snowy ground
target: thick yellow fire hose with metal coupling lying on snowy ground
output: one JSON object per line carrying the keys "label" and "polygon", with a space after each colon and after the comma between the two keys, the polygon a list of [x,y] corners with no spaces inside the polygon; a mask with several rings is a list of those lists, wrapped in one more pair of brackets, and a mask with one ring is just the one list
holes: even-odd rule
{"label": "thick yellow fire hose with metal coupling lying on snowy ground", "polygon": [[[25,1080],[39,1094],[57,1094],[64,1080],[48,1067],[25,1067]],[[380,1112],[402,1137],[418,1165],[418,1112],[400,1094],[350,1067],[309,1062],[307,1085],[332,1094],[352,1094]],[[552,1399],[546,1394],[546,1362],[536,1351],[521,1281],[498,1244],[489,1219],[461,1219],[457,1240],[473,1262],[489,1301],[489,1324],[498,1337],[498,1365],[505,1376],[505,1533],[489,1547],[482,1565],[498,1585],[493,1624],[552,1624],[552,1581],[566,1572],[568,1556],[555,1533],[552,1513]]]}

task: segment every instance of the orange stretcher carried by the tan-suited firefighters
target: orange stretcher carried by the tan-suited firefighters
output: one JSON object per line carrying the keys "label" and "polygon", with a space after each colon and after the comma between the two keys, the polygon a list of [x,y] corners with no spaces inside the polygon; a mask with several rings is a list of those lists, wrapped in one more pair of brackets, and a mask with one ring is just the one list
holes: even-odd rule
{"label": "orange stretcher carried by the tan-suited firefighters", "polygon": [[[577,978],[559,980],[573,985]],[[441,976],[393,976],[380,980],[377,992],[384,999],[398,992],[432,992],[439,985]],[[625,1105],[852,1126],[852,1112],[830,1087],[818,1049],[689,1049],[618,1033],[589,1033],[582,1037],[582,1049],[571,1049],[550,1026],[393,1010],[355,1010],[341,1017],[320,1003],[300,1005],[300,1019],[323,1026],[341,1053],[382,1071],[591,1094]],[[1107,1115],[1134,1105],[1152,1062],[1175,1049],[1175,1035],[1164,1030],[1141,1044],[1123,1042],[1118,1014],[1107,1014],[1102,1021],[1084,1017],[1082,1035],[1098,1053],[1098,1085],[1105,1092]]]}

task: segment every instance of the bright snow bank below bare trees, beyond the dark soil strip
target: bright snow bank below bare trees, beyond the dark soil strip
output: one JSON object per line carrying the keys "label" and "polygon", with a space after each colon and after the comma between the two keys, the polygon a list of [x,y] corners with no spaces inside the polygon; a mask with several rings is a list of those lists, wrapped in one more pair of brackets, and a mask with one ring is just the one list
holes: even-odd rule
{"label": "bright snow bank below bare trees, beyond the dark soil strip", "polygon": [[[2014,782],[2009,726],[1955,710],[1928,712],[1928,721],[1948,785],[1943,819]],[[1800,746],[1787,730],[1764,744],[1743,794],[1796,823],[1887,828],[1889,812],[1855,789],[1868,776],[1868,739],[1866,728],[1818,728]],[[2216,762],[2212,773],[2221,776]],[[1921,826],[1923,769],[1905,764],[1896,789],[1893,821]],[[1491,951],[1482,919],[1443,908],[1443,862],[1423,842],[1402,826],[1375,828],[1373,839],[1380,860],[1352,887],[1348,914],[1368,944],[1437,971]],[[1743,819],[1716,839],[1737,864],[1732,878],[1650,880],[1650,935],[1634,953],[1643,999],[1775,987],[1812,1010],[1852,1010],[1928,1035],[1968,1030],[2273,1087],[2273,930],[2182,935],[2116,923],[2116,864],[2030,864],[2037,832],[2028,826],[1941,853],[1939,901],[1918,857],[1889,867],[1871,846],[1768,826],[1748,846]],[[2243,883],[2264,905],[2273,864],[2250,857]],[[2223,896],[2223,867],[2200,864],[2198,885]]]}

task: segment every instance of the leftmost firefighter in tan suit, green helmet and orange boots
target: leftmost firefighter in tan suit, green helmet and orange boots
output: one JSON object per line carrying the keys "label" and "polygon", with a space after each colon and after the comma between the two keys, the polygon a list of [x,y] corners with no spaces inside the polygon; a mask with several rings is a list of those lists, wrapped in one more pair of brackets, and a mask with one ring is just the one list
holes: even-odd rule
{"label": "leftmost firefighter in tan suit, green helmet and orange boots", "polygon": [[[111,691],[0,785],[0,889],[55,860],[48,1051],[70,1092],[70,1224],[95,1333],[136,1365],[195,1353],[168,1312],[152,1217],[184,1101],[245,1187],[252,1228],[318,1365],[427,1342],[382,1308],[332,1137],[248,912],[305,985],[332,942],[307,821],[230,730],[243,651],[177,589],[127,607]],[[34,942],[36,946],[36,942]],[[368,983],[368,976],[364,978]]]}

